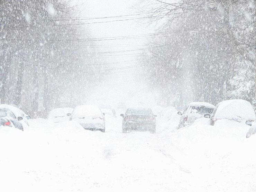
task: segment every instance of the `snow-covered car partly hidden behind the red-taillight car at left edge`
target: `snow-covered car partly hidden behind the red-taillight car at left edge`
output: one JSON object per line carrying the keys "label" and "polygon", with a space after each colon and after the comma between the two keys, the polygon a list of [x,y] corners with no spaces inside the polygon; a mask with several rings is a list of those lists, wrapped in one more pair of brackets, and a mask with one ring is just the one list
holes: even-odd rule
{"label": "snow-covered car partly hidden behind the red-taillight car at left edge", "polygon": [[0,108],[9,109],[13,113],[13,115],[15,115],[16,119],[18,119],[19,117],[19,121],[21,122],[23,128],[29,126],[28,119],[30,119],[30,116],[28,116],[24,111],[22,111],[18,107],[7,104],[0,104]]}

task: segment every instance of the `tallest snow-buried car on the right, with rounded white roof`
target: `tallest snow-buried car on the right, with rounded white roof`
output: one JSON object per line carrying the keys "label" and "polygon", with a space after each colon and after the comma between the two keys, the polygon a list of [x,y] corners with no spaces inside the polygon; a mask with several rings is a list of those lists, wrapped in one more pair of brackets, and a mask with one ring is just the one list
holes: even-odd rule
{"label": "tallest snow-buried car on the right, with rounded white roof", "polygon": [[250,102],[242,99],[231,99],[220,102],[212,114],[205,114],[205,118],[209,118],[209,125],[214,125],[216,121],[221,119],[242,121],[255,121],[256,115]]}

